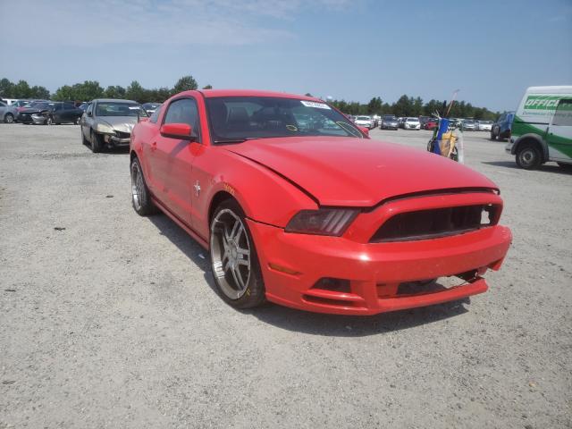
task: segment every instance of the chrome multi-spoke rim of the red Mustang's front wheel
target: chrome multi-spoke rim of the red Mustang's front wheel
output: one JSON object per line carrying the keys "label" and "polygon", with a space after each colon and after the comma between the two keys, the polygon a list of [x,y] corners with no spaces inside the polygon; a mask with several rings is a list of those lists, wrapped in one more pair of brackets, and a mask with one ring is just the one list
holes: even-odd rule
{"label": "chrome multi-spoke rim of the red Mustang's front wheel", "polygon": [[250,242],[238,214],[225,208],[211,223],[213,273],[224,295],[240,299],[250,281]]}

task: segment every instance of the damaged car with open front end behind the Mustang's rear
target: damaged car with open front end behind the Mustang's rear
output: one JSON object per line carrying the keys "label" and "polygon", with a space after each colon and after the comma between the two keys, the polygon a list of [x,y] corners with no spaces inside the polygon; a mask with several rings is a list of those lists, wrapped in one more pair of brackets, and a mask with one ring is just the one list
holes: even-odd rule
{"label": "damaged car with open front end behind the Mustang's rear", "polygon": [[136,101],[98,98],[81,116],[81,141],[92,152],[106,147],[128,147],[133,126],[147,112]]}

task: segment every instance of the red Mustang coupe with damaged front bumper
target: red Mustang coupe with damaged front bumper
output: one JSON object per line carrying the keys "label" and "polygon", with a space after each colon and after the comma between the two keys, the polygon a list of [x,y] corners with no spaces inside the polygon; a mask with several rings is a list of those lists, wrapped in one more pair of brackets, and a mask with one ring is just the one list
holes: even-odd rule
{"label": "red Mustang coupe with damaged front bumper", "polygon": [[208,248],[239,308],[373,315],[462,299],[487,290],[511,240],[492,181],[371,140],[313,97],[182,92],[135,126],[130,173],[135,211],[158,207]]}

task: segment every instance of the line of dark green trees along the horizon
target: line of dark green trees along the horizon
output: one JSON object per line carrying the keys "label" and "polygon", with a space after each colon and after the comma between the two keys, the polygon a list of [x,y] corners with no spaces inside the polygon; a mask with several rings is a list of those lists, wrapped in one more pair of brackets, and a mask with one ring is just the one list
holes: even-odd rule
{"label": "line of dark green trees along the horizon", "polygon": [[[167,98],[181,91],[197,89],[198,83],[192,76],[183,76],[172,88],[143,88],[137,80],[133,80],[127,88],[119,85],[102,88],[97,80],[85,80],[83,83],[63,85],[50,94],[44,87],[30,87],[26,80],[16,83],[4,78],[0,80],[0,97],[3,98],[42,98],[55,101],[88,101],[94,98],[127,98],[139,103],[163,103]],[[206,85],[203,89],[213,88]],[[310,96],[310,94],[307,94]],[[344,114],[395,114],[396,116],[433,116],[445,113],[446,102],[430,100],[424,103],[421,97],[401,96],[395,103],[383,102],[381,97],[373,97],[369,103],[357,101],[332,100],[332,105]],[[450,109],[450,117],[494,120],[499,112],[492,112],[485,107],[476,107],[465,101],[455,102]]]}

